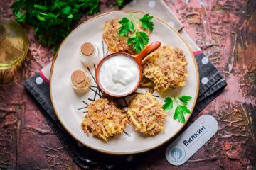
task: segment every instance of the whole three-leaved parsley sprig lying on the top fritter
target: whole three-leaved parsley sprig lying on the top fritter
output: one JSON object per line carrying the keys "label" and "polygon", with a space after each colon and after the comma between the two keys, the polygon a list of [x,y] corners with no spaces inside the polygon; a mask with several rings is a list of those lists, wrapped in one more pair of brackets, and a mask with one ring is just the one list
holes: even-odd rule
{"label": "whole three-leaved parsley sprig lying on the top fritter", "polygon": [[129,33],[133,33],[129,36],[127,44],[132,45],[132,49],[139,53],[148,44],[149,37],[144,31],[141,31],[137,28],[137,22],[141,23],[143,28],[153,31],[154,23],[151,21],[153,16],[146,14],[142,18],[138,19],[132,13],[130,13],[130,18],[131,20],[129,20],[127,17],[124,17],[118,22],[122,25],[119,28],[118,35],[123,37],[129,35]]}

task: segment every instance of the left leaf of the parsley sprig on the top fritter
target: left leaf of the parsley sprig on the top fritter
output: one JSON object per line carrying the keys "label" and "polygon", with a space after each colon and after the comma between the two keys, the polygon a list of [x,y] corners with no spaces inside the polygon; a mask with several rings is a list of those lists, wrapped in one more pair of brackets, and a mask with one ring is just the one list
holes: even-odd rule
{"label": "left leaf of the parsley sprig on the top fritter", "polygon": [[134,24],[127,17],[122,18],[122,20],[118,21],[118,23],[122,24],[118,33],[118,35],[121,37],[128,35],[134,30]]}

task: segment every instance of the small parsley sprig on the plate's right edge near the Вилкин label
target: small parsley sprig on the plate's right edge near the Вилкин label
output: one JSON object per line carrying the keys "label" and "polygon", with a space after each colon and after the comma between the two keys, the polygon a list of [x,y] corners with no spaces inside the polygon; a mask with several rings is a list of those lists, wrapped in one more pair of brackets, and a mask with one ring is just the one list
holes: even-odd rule
{"label": "small parsley sprig on the plate's right edge near the \u0412\u0438\u043b\u043a\u0438\u043d label", "polygon": [[[178,120],[180,123],[185,123],[185,114],[191,113],[187,107],[188,101],[191,101],[191,96],[178,96],[174,98],[167,97],[164,99],[163,109],[164,111],[171,110],[174,106],[174,102],[177,103],[177,107],[174,112],[174,120]],[[182,104],[180,104],[180,101]]]}

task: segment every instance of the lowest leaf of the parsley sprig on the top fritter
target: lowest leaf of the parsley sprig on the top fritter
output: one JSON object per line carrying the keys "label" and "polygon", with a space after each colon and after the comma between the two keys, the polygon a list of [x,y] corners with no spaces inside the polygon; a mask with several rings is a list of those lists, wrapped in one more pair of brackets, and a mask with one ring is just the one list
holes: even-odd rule
{"label": "lowest leaf of the parsley sprig on the top fritter", "polygon": [[149,37],[142,31],[136,31],[128,40],[127,44],[137,52],[141,52],[149,42]]}

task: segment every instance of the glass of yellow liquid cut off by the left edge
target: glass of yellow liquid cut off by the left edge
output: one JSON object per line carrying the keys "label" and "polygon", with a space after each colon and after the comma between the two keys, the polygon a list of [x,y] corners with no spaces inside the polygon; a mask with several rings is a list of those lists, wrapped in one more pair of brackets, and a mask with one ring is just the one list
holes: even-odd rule
{"label": "glass of yellow liquid cut off by the left edge", "polygon": [[28,52],[28,37],[16,21],[0,20],[0,69],[21,64]]}

